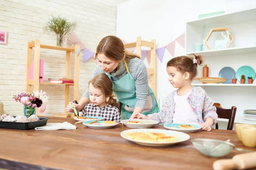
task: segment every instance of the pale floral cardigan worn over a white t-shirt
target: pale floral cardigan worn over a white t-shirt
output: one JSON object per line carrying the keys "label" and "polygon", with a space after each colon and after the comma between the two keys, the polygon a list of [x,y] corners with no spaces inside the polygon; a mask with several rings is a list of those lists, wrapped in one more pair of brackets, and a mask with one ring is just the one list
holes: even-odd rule
{"label": "pale floral cardigan worn over a white t-shirt", "polygon": [[[149,119],[156,120],[160,123],[172,123],[173,113],[175,109],[174,96],[177,90],[173,91],[166,97],[162,111],[159,113],[148,114]],[[213,125],[217,123],[218,115],[213,101],[201,87],[193,87],[191,93],[187,97],[187,102],[199,118],[200,123],[204,123],[206,118],[211,117],[214,120]]]}

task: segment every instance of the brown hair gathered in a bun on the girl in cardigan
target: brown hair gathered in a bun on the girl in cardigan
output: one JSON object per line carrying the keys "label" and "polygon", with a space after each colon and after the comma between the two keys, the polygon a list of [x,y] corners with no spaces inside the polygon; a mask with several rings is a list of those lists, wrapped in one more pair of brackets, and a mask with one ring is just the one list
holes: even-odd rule
{"label": "brown hair gathered in a bun on the girl in cardigan", "polygon": [[[193,55],[193,57],[190,57]],[[197,62],[194,63],[193,59],[197,59]],[[177,71],[179,71],[181,74],[184,74],[188,72],[190,74],[190,79],[192,80],[194,77],[197,76],[197,66],[202,65],[204,62],[204,57],[201,55],[196,56],[195,54],[189,54],[189,57],[187,56],[180,56],[172,58],[169,62],[167,62],[167,67],[175,67]]]}

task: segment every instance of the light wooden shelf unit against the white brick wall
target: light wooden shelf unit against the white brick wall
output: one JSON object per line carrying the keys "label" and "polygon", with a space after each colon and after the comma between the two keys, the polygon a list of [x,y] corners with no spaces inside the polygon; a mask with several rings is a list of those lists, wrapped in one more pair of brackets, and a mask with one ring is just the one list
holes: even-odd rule
{"label": "light wooden shelf unit against the white brick wall", "polygon": [[[34,79],[29,79],[29,69],[33,61],[33,48],[34,48]],[[43,45],[40,40],[35,40],[28,42],[28,52],[27,52],[27,79],[26,79],[26,92],[32,91],[32,85],[34,91],[39,91],[39,85],[65,85],[65,107],[68,105],[70,97],[70,85],[74,85],[74,100],[79,98],[79,57],[80,53],[75,52],[75,70],[74,70],[74,83],[49,83],[49,82],[39,82],[39,71],[40,71],[40,49],[52,49],[52,50],[61,50],[66,51],[66,77],[70,79],[70,52],[80,50],[80,46],[76,45],[75,47],[58,47],[52,45]],[[64,112],[66,110],[64,109]],[[38,108],[36,111],[38,115]]]}

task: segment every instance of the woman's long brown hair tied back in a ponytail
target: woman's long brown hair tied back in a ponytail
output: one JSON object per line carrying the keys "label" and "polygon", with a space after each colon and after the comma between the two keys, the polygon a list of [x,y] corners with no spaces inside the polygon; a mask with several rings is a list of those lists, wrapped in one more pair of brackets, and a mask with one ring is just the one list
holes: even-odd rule
{"label": "woman's long brown hair tied back in a ponytail", "polygon": [[115,36],[107,36],[102,38],[97,46],[96,57],[98,54],[104,54],[106,57],[121,61],[123,59],[133,59],[135,57],[140,59],[140,56],[130,51],[125,50],[122,40]]}

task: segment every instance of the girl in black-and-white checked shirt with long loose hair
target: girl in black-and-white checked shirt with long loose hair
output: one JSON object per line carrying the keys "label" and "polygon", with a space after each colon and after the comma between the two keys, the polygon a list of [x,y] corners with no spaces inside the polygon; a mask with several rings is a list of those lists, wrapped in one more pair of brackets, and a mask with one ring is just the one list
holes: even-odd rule
{"label": "girl in black-and-white checked shirt with long loose hair", "polygon": [[101,116],[105,120],[119,122],[119,113],[116,99],[112,90],[112,82],[106,74],[98,74],[89,82],[90,103],[85,105],[82,116]]}

